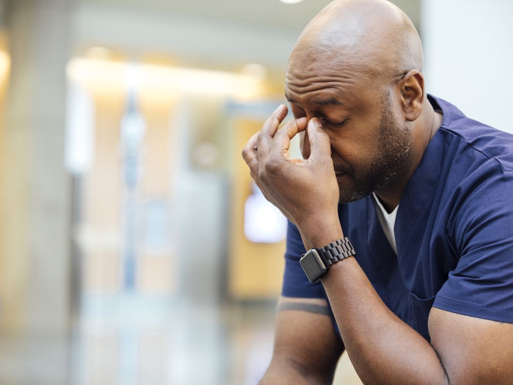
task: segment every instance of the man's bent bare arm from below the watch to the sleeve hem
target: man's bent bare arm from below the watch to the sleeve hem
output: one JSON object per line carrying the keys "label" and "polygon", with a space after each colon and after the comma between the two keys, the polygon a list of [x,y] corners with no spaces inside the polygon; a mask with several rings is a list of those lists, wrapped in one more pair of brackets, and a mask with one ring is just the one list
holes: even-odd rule
{"label": "man's bent bare arm from below the watch to the sleeve hem", "polygon": [[513,383],[513,324],[433,308],[430,344],[388,310],[354,258],[330,270],[323,285],[364,383]]}

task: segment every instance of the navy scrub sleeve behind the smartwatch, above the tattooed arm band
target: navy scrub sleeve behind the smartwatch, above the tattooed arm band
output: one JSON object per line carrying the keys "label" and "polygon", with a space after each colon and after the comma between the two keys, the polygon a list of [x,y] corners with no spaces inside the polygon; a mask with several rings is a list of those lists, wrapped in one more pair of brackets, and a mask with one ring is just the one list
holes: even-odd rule
{"label": "navy scrub sleeve behind the smartwatch, above the tattooed arm band", "polygon": [[305,254],[305,246],[299,230],[294,224],[288,222],[282,295],[297,298],[324,298],[321,282],[311,283],[299,263],[303,254]]}

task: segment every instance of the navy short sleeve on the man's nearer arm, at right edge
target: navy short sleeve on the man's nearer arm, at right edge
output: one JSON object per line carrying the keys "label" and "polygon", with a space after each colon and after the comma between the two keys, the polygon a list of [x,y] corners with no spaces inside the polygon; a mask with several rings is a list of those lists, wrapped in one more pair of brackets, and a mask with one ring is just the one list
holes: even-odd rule
{"label": "navy short sleeve on the man's nearer arm, at right edge", "polygon": [[513,323],[513,176],[491,178],[465,200],[452,226],[460,259],[433,306]]}

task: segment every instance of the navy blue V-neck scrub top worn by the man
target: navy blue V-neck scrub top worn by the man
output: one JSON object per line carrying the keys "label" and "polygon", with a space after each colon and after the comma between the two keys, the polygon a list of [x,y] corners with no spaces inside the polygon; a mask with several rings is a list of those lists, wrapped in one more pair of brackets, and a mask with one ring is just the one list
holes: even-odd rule
{"label": "navy blue V-neck scrub top worn by the man", "polygon": [[[513,323],[513,136],[428,99],[443,122],[403,192],[397,255],[371,196],[339,205],[339,218],[383,302],[429,341],[432,306]],[[304,253],[289,223],[282,295],[326,298],[299,264]]]}

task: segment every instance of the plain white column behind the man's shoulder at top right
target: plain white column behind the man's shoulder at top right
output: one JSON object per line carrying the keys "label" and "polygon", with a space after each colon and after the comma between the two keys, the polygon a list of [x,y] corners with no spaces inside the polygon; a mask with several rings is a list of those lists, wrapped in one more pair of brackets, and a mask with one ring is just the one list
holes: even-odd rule
{"label": "plain white column behind the man's shoulder at top right", "polygon": [[427,92],[513,133],[513,2],[423,0]]}

